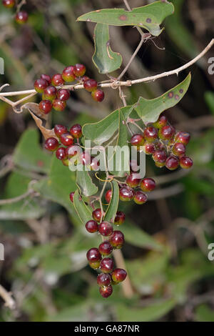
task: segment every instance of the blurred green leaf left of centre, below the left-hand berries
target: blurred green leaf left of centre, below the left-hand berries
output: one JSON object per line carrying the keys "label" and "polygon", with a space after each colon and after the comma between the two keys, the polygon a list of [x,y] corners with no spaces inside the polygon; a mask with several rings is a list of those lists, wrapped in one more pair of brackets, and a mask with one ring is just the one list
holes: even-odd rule
{"label": "blurred green leaf left of centre, below the left-hand berries", "polygon": [[49,176],[34,184],[34,189],[53,202],[61,204],[71,214],[74,213],[73,205],[69,198],[70,192],[76,190],[75,173],[56,159],[53,155]]}

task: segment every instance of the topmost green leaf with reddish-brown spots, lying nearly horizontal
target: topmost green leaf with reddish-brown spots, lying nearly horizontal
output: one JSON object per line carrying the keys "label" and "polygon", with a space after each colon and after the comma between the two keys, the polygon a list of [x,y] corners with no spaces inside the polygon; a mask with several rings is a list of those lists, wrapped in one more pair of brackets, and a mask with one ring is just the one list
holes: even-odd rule
{"label": "topmost green leaf with reddish-brown spots, lying nearly horizontal", "polygon": [[170,2],[156,1],[147,6],[125,9],[101,9],[79,16],[77,21],[89,21],[113,26],[140,26],[152,35],[158,36],[163,29],[160,24],[166,16],[173,14],[174,6]]}

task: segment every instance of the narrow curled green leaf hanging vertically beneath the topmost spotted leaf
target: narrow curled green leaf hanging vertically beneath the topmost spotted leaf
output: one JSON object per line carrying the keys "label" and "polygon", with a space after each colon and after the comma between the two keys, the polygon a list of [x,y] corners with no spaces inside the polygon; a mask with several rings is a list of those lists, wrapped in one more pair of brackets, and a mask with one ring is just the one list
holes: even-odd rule
{"label": "narrow curled green leaf hanging vertically beneath the topmost spotted leaf", "polygon": [[108,74],[118,69],[122,64],[121,54],[111,50],[108,24],[96,24],[94,29],[93,63],[100,74]]}

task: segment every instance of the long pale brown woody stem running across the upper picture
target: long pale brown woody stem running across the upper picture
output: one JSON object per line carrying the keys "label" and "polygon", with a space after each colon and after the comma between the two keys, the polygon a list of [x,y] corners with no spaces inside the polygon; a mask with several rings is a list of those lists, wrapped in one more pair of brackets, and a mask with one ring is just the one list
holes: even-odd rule
{"label": "long pale brown woody stem running across the upper picture", "polygon": [[[133,79],[133,80],[127,80],[127,81],[118,81],[118,80],[111,80],[108,83],[101,83],[98,86],[99,87],[111,87],[113,89],[116,89],[117,87],[131,87],[133,84],[140,84],[140,83],[146,83],[149,81],[156,81],[156,79],[160,79],[163,77],[171,76],[173,74],[176,74],[178,76],[180,71],[183,71],[185,69],[188,69],[190,66],[195,64],[199,59],[201,59],[213,46],[214,44],[214,39],[210,41],[210,43],[203,49],[203,51],[198,54],[194,59],[189,61],[188,63],[184,64],[183,66],[180,66],[177,69],[171,70],[171,71],[165,71],[162,74],[156,74],[154,76],[148,76],[140,79]],[[70,90],[78,90],[78,89],[84,89],[83,84],[74,84],[74,85],[63,85],[61,88],[63,89],[70,89]],[[1,88],[0,88],[1,89]],[[11,102],[9,99],[6,99],[5,97],[12,97],[16,95],[21,95],[21,94],[36,94],[36,91],[34,89],[31,90],[24,90],[24,91],[16,91],[16,92],[0,92],[0,99],[4,100],[5,102],[14,105],[16,103]],[[28,99],[29,97],[26,97]]]}

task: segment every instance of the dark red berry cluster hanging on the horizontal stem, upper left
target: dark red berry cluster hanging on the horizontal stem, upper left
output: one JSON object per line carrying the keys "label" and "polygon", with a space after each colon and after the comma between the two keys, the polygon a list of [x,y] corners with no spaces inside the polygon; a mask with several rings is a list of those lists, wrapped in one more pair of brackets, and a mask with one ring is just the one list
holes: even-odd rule
{"label": "dark red berry cluster hanging on the horizontal stem, upper left", "polygon": [[49,114],[52,107],[56,111],[62,112],[66,108],[66,101],[70,97],[69,90],[62,87],[66,82],[75,80],[82,83],[85,89],[91,92],[91,96],[96,102],[102,102],[104,92],[97,88],[97,81],[84,76],[85,72],[86,66],[76,64],[75,66],[66,66],[62,74],[54,74],[52,78],[47,74],[41,74],[40,78],[36,79],[34,83],[36,92],[42,94],[42,100],[39,103],[41,112]]}

